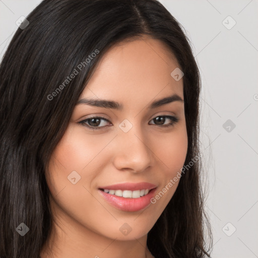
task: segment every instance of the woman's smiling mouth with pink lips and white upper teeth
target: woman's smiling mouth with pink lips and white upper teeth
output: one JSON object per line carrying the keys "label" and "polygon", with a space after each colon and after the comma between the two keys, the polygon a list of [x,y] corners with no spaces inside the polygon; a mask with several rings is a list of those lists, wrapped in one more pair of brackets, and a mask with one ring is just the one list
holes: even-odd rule
{"label": "woman's smiling mouth with pink lips and white upper teeth", "polygon": [[98,188],[98,192],[114,208],[126,212],[137,212],[150,205],[156,189],[157,185],[141,182],[103,186]]}

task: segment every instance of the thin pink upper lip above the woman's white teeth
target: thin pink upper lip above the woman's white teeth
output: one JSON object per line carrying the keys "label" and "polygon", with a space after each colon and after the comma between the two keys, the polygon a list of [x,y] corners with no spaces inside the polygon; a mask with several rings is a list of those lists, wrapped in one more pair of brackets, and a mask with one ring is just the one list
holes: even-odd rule
{"label": "thin pink upper lip above the woman's white teeth", "polygon": [[131,191],[136,191],[136,190],[142,190],[142,189],[153,189],[156,188],[157,185],[148,183],[148,182],[139,182],[139,183],[117,183],[117,184],[112,184],[112,185],[106,185],[106,186],[101,186],[99,189],[109,189],[109,190],[131,190]]}

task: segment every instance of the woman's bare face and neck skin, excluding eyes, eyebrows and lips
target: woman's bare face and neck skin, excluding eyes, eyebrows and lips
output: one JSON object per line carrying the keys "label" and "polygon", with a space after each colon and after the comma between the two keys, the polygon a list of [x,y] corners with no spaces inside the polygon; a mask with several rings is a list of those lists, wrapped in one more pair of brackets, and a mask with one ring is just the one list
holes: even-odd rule
{"label": "woman's bare face and neck skin, excluding eyes, eyebrows and lips", "polygon": [[[125,212],[109,205],[98,187],[123,182],[146,181],[160,192],[180,172],[187,152],[184,104],[174,101],[148,109],[154,100],[176,93],[183,99],[183,79],[170,73],[179,67],[167,46],[145,36],[111,47],[100,60],[81,98],[114,100],[123,110],[79,104],[69,126],[56,146],[46,171],[51,192],[53,230],[41,257],[128,258],[153,257],[147,248],[147,234],[172,198],[179,180],[155,203],[138,212]],[[180,68],[180,67],[179,67]],[[102,127],[90,130],[78,122],[101,116]],[[169,127],[153,118],[176,116]],[[119,124],[133,125],[124,133]],[[166,118],[163,124],[169,124]],[[81,179],[72,184],[68,175],[77,171]],[[132,231],[123,235],[127,223]],[[55,233],[55,235],[54,235]]]}

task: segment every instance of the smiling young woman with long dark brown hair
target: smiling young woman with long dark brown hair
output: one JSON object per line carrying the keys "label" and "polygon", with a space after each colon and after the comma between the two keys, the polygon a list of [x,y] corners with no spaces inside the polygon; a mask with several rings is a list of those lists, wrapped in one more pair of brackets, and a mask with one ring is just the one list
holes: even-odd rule
{"label": "smiling young woman with long dark brown hair", "polygon": [[210,257],[179,23],[156,0],[44,0],[27,21],[0,68],[0,257]]}

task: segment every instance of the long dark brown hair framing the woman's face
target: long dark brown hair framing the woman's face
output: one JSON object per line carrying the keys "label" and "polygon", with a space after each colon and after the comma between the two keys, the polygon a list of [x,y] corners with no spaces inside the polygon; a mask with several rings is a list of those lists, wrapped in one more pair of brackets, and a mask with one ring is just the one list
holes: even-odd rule
{"label": "long dark brown hair framing the woman's face", "polygon": [[[198,66],[183,28],[158,1],[44,0],[27,20],[29,24],[16,31],[0,66],[1,258],[38,258],[52,225],[45,168],[110,46],[142,35],[167,44],[184,73],[185,165],[200,157]],[[85,62],[80,73],[59,87],[96,49],[98,54]],[[211,240],[201,158],[192,163],[148,234],[147,245],[156,258],[210,257],[204,237],[207,229]],[[16,231],[22,222],[29,228],[23,237]]]}

